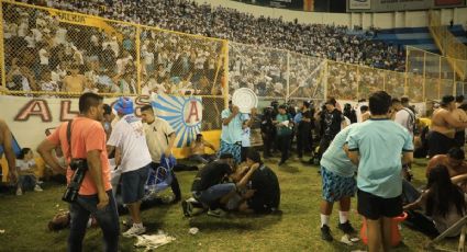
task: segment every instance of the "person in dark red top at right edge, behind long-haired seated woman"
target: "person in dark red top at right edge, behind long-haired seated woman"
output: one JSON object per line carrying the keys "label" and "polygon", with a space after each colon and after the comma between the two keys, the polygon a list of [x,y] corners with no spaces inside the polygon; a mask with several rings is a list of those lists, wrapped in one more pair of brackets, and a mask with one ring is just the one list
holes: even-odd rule
{"label": "person in dark red top at right edge, behind long-haired seated woman", "polygon": [[429,177],[430,171],[438,164],[447,168],[451,177],[465,174],[467,173],[467,162],[464,159],[464,150],[457,147],[449,149],[447,154],[436,154],[426,164],[426,177]]}

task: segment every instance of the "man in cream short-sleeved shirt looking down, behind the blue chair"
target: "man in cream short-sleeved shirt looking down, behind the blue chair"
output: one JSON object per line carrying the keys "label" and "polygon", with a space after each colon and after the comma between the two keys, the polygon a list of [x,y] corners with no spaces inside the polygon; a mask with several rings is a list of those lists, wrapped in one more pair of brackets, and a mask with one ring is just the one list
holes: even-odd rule
{"label": "man in cream short-sleeved shirt looking down, behind the blue chair", "polygon": [[[156,170],[160,167],[163,154],[166,158],[171,156],[176,134],[167,121],[155,116],[152,105],[145,105],[141,108],[141,117],[143,123],[145,123],[144,133],[146,134],[146,144],[153,160],[151,165],[152,169]],[[171,172],[171,175],[173,181],[170,187],[175,195],[173,203],[176,203],[181,199],[181,192],[175,172]]]}

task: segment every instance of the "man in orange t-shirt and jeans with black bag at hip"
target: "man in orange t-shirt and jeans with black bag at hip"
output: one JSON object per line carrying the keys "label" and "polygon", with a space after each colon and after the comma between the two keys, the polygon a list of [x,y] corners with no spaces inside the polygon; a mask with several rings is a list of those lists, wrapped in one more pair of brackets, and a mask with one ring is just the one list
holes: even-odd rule
{"label": "man in orange t-shirt and jeans with black bag at hip", "polygon": [[[82,239],[89,215],[92,214],[103,232],[104,251],[118,251],[119,215],[110,184],[110,165],[105,149],[105,131],[100,123],[103,117],[103,99],[94,93],[79,98],[80,115],[71,122],[71,148],[67,139],[68,123],[64,123],[37,148],[44,161],[55,171],[64,172],[52,151],[60,146],[67,163],[73,159],[86,159],[88,171],[78,192],[77,199],[70,203],[70,233],[68,251],[81,251]],[[66,169],[70,183],[74,171]]]}

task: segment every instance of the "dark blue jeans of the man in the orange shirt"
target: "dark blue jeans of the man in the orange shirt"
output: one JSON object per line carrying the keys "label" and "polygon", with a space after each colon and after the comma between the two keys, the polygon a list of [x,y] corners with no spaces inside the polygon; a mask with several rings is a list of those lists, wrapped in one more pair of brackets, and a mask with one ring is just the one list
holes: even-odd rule
{"label": "dark blue jeans of the man in the orange shirt", "polygon": [[70,232],[68,237],[68,251],[82,251],[82,239],[86,234],[86,226],[89,215],[96,217],[103,234],[103,251],[119,250],[119,214],[116,213],[115,199],[112,191],[107,191],[109,205],[103,209],[98,209],[99,198],[97,195],[78,195],[76,202],[69,206]]}

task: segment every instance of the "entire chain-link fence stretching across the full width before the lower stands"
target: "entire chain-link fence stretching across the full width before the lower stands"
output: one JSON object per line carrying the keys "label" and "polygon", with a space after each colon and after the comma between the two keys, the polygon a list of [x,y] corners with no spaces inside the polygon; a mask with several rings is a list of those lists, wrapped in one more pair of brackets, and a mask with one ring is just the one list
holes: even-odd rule
{"label": "entire chain-link fence stretching across the full width before the lower stands", "polygon": [[[163,31],[0,1],[0,68],[7,94],[201,95],[216,118],[226,95],[251,88],[275,100],[365,99],[377,90],[412,101],[464,93],[453,60],[408,47],[407,72],[335,62],[286,50]],[[1,45],[1,44],[0,44]],[[229,55],[227,55],[229,51]],[[458,68],[464,61],[455,60]],[[216,119],[207,128],[220,128]]]}

